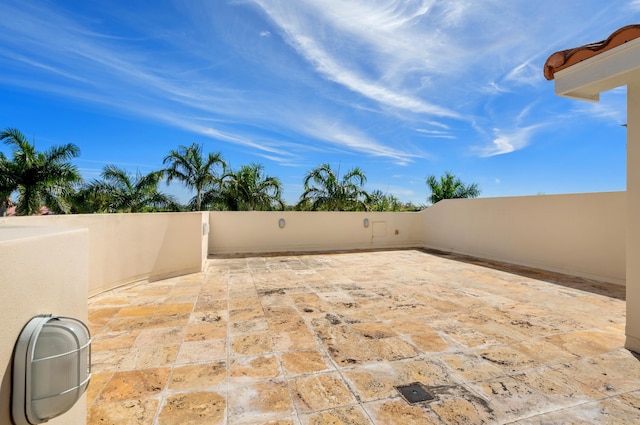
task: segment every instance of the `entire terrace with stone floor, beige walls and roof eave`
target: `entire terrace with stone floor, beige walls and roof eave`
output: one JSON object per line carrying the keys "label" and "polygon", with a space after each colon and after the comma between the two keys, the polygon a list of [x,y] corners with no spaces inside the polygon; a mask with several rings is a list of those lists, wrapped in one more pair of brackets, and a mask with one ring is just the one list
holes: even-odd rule
{"label": "entire terrace with stone floor, beige walls and roof eave", "polygon": [[[628,85],[626,192],[0,219],[0,423],[39,313],[95,338],[51,425],[637,423],[640,38],[614,35],[547,71],[580,99]],[[414,382],[433,399],[406,402]]]}

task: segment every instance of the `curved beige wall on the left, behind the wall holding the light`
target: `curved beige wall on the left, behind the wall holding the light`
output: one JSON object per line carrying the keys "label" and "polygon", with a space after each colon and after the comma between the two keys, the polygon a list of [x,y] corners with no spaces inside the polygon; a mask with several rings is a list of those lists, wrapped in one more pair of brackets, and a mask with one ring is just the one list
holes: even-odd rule
{"label": "curved beige wall on the left, behind the wall holding the light", "polygon": [[89,295],[93,295],[136,281],[201,271],[208,245],[203,225],[208,218],[199,212],[6,217],[0,226],[88,229]]}

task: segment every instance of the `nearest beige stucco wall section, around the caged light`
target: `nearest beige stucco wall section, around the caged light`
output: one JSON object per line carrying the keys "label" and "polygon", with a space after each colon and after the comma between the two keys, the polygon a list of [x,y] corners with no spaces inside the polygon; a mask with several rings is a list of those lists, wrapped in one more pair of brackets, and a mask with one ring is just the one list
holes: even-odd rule
{"label": "nearest beige stucco wall section, around the caged light", "polygon": [[[27,322],[53,313],[87,320],[88,232],[0,228],[0,424],[11,424],[13,347]],[[86,397],[51,425],[86,423]]]}

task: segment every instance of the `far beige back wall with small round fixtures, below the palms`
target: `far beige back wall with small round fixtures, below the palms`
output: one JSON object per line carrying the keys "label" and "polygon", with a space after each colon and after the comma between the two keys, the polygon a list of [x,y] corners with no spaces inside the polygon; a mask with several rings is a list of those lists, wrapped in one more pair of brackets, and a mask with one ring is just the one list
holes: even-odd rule
{"label": "far beige back wall with small round fixtures, below the palms", "polygon": [[[284,228],[278,226],[285,220]],[[369,227],[364,227],[364,220]],[[419,247],[420,213],[231,212],[209,215],[209,253],[246,254]]]}

